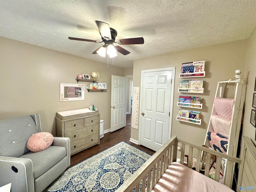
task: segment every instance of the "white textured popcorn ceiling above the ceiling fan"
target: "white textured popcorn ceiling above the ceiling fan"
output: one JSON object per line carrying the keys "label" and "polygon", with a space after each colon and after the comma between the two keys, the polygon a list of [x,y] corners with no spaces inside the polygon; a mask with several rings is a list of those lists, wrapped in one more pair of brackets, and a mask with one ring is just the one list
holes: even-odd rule
{"label": "white textured popcorn ceiling above the ceiling fan", "polygon": [[[100,40],[95,20],[117,30],[116,39],[143,37],[121,45],[114,65],[248,38],[256,28],[256,0],[0,0],[0,36],[107,63],[92,54]],[[112,63],[112,59],[110,59]]]}

